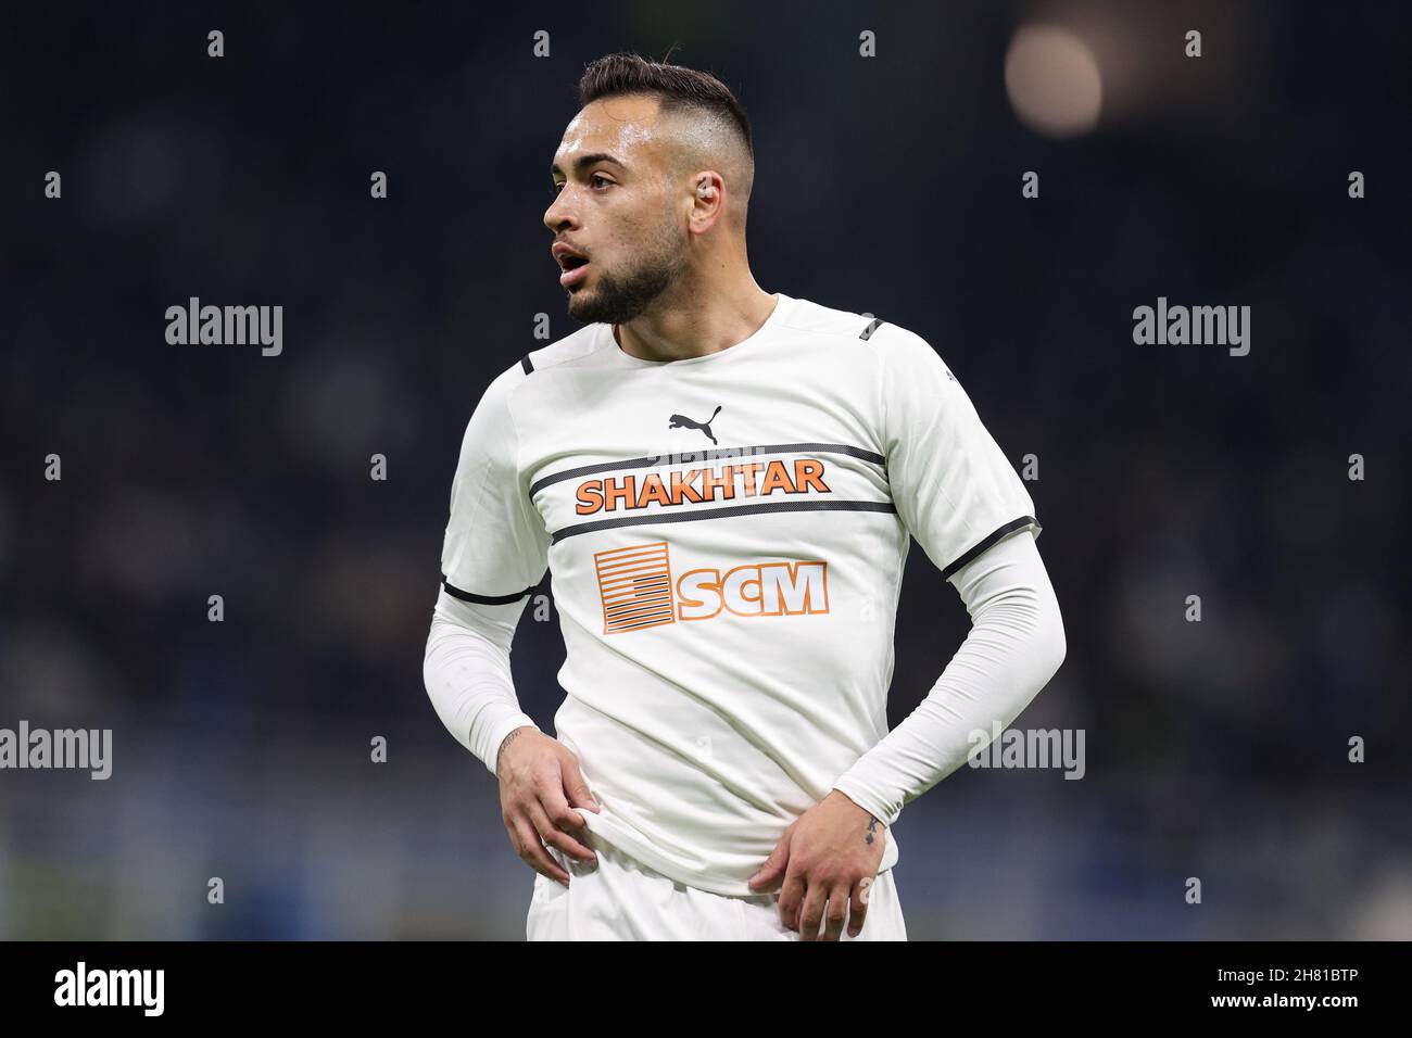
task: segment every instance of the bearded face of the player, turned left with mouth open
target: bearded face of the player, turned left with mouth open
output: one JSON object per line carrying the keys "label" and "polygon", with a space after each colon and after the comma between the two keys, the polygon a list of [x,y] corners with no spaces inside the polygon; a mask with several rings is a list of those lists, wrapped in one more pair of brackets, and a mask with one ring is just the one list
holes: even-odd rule
{"label": "bearded face of the player, turned left with mouth open", "polygon": [[644,96],[596,100],[554,155],[556,193],[544,223],[555,234],[569,316],[583,323],[631,321],[686,268],[681,185],[668,172],[671,141],[657,107]]}

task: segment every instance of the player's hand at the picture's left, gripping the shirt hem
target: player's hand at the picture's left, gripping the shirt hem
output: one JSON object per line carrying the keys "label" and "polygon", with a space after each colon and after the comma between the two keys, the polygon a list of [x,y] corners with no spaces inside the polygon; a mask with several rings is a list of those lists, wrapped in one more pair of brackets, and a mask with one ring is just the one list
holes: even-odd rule
{"label": "player's hand at the picture's left, gripping the shirt hem", "polygon": [[545,843],[580,861],[599,860],[566,832],[587,832],[583,815],[572,808],[597,813],[599,805],[589,794],[578,758],[563,743],[538,729],[518,727],[500,744],[496,775],[500,778],[500,816],[522,861],[568,887],[569,874],[545,850]]}

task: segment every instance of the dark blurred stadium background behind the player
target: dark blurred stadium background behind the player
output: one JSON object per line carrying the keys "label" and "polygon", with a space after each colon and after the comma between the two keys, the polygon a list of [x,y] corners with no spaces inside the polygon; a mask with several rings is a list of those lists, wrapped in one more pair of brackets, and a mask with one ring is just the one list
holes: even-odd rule
{"label": "dark blurred stadium background behind the player", "polygon": [[[537,314],[578,328],[541,217],[614,49],[740,96],[762,288],[925,336],[1039,459],[1069,652],[1017,726],[1087,772],[909,805],[912,936],[1412,936],[1409,40],[1374,3],[7,11],[0,727],[114,746],[0,771],[0,936],[524,936],[422,648],[465,422]],[[282,305],[282,354],[168,345],[193,295]],[[1251,306],[1250,354],[1134,345],[1158,297]],[[892,723],[967,627],[914,547]],[[546,730],[562,658],[527,612]]]}

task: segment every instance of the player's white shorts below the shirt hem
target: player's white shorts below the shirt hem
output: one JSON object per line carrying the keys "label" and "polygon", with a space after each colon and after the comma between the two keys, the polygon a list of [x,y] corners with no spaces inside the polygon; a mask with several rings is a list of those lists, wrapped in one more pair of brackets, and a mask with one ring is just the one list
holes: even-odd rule
{"label": "player's white shorts below the shirt hem", "polygon": [[[799,939],[779,921],[778,894],[713,894],[676,883],[603,840],[592,846],[597,864],[548,849],[568,870],[569,885],[535,873],[525,921],[530,941]],[[863,931],[850,938],[844,925],[840,941],[907,941],[891,869],[870,888]]]}

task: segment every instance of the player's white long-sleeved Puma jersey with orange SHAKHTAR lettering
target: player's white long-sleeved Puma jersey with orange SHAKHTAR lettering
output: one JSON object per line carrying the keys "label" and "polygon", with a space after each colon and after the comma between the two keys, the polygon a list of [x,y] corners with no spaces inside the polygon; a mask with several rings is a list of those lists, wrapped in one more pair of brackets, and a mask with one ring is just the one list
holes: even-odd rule
{"label": "player's white long-sleeved Puma jersey with orange SHAKHTAR lettering", "polygon": [[[1008,723],[1058,667],[1053,593],[1029,580],[1021,609],[1038,619],[1011,633],[1048,630],[1038,658],[980,696],[984,667],[957,652],[888,736],[909,537],[956,579],[983,554],[1014,566],[1014,548],[987,549],[1032,552],[1041,525],[923,339],[777,299],[717,353],[641,360],[597,323],[496,377],[462,443],[436,623],[457,599],[498,638],[438,640],[433,624],[428,645],[442,720],[494,770],[532,722],[493,643],[508,647],[548,569],[566,650],[555,733],[602,806],[580,812],[589,829],[730,895],[751,894],[784,829],[833,788],[895,822],[962,763],[971,722]],[[898,850],[890,832],[881,869]]]}

